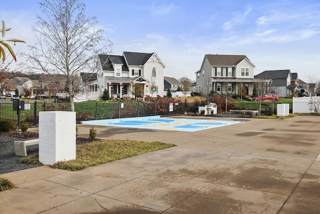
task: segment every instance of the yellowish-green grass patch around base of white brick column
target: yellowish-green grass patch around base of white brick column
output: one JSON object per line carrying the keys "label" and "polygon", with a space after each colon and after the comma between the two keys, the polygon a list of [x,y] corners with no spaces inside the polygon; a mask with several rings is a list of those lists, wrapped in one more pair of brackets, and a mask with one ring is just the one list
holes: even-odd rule
{"label": "yellowish-green grass patch around base of white brick column", "polygon": [[[52,168],[70,171],[82,170],[89,166],[112,162],[139,154],[170,148],[174,144],[158,141],[143,142],[132,140],[99,140],[76,146],[76,159],[60,161],[51,165]],[[40,164],[38,154],[20,159],[23,163]]]}

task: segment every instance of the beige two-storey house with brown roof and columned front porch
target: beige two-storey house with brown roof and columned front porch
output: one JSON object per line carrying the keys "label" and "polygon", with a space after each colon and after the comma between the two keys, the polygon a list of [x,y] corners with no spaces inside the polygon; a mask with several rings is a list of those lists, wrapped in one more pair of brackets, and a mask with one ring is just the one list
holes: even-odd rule
{"label": "beige two-storey house with brown roof and columned front porch", "polygon": [[200,69],[195,72],[196,92],[240,93],[252,95],[255,66],[245,55],[204,55]]}

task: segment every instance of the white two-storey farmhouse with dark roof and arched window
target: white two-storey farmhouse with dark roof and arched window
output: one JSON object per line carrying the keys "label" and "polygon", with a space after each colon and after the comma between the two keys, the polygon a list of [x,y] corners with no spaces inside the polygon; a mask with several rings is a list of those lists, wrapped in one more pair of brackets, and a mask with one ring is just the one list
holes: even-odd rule
{"label": "white two-storey farmhouse with dark roof and arched window", "polygon": [[163,97],[165,66],[156,53],[123,52],[122,56],[98,55],[97,89],[106,88],[110,97],[133,97],[133,87],[142,88],[139,95]]}

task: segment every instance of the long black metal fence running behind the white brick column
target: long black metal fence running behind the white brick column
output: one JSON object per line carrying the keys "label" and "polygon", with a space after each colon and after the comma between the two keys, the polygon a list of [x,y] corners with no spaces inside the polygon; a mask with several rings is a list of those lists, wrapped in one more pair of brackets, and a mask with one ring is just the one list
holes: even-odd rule
{"label": "long black metal fence running behind the white brick column", "polygon": [[[177,115],[196,112],[202,102],[193,103],[126,103],[126,102],[81,102],[74,103],[77,121],[144,117],[155,115]],[[39,111],[70,111],[70,103],[34,102],[24,103],[20,111],[20,122],[37,125]],[[0,119],[18,124],[17,111],[11,103],[0,104]]]}

